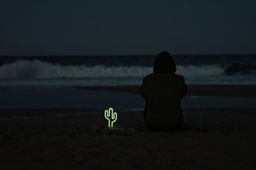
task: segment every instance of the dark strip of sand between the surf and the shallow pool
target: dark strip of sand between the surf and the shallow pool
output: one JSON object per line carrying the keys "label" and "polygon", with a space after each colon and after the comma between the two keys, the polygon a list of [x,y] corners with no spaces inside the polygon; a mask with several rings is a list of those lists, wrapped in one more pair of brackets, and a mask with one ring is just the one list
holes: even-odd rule
{"label": "dark strip of sand between the surf and the shallow pool", "polygon": [[[138,94],[140,85],[113,85],[113,86],[0,86],[4,89],[28,89],[28,88],[74,88],[89,90],[106,90],[113,92],[127,92]],[[222,97],[256,97],[256,85],[203,85],[188,84],[187,96],[222,96]]]}

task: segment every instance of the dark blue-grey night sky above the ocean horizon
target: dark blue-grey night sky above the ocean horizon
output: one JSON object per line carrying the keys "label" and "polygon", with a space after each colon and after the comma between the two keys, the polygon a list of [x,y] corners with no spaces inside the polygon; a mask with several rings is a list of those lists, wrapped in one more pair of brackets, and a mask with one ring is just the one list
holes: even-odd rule
{"label": "dark blue-grey night sky above the ocean horizon", "polygon": [[0,55],[256,53],[255,0],[1,0]]}

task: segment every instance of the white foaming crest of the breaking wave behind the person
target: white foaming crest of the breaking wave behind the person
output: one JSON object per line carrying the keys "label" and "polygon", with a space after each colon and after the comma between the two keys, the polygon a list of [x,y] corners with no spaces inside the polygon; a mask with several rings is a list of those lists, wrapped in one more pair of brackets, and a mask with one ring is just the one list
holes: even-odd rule
{"label": "white foaming crest of the breaking wave behind the person", "polygon": [[[17,60],[0,66],[0,78],[125,78],[143,77],[152,70],[141,66],[61,66],[40,60]],[[218,76],[225,74],[225,69],[219,65],[189,65],[177,66],[177,73],[187,77]]]}

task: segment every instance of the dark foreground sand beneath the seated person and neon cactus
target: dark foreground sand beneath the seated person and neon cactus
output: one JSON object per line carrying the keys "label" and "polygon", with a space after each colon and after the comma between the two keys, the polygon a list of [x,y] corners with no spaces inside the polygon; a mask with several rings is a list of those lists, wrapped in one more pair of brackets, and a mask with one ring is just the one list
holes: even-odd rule
{"label": "dark foreground sand beneath the seated person and neon cactus", "polygon": [[0,121],[0,169],[256,169],[255,113],[186,109],[166,133],[145,129],[141,111],[108,130],[103,110],[1,110],[12,119]]}

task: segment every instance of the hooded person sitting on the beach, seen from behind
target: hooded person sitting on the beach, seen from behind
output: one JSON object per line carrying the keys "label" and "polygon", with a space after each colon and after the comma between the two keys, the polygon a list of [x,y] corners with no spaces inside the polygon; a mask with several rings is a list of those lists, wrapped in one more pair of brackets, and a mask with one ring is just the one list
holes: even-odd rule
{"label": "hooded person sitting on the beach, seen from behind", "polygon": [[172,56],[164,51],[156,56],[153,73],[143,78],[139,93],[146,100],[143,116],[151,131],[178,131],[183,124],[180,99],[187,87],[184,76],[175,71]]}

